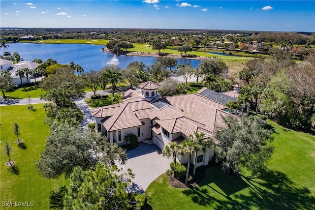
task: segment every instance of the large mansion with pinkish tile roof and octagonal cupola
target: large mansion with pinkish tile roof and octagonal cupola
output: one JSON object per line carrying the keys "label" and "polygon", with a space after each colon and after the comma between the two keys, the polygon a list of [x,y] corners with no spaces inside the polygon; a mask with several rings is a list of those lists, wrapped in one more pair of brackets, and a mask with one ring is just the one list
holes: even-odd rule
{"label": "large mansion with pinkish tile roof and octagonal cupola", "polygon": [[[133,133],[139,142],[153,143],[163,150],[172,141],[181,142],[194,135],[204,133],[204,138],[214,138],[219,127],[224,126],[222,117],[228,116],[226,106],[198,93],[159,98],[158,88],[153,82],[139,85],[140,92],[127,90],[119,104],[96,108],[96,132],[107,136],[110,143],[125,145],[124,137]],[[233,116],[233,115],[232,115]],[[198,151],[197,167],[208,165],[214,149]],[[178,161],[188,163],[189,156],[178,155]]]}

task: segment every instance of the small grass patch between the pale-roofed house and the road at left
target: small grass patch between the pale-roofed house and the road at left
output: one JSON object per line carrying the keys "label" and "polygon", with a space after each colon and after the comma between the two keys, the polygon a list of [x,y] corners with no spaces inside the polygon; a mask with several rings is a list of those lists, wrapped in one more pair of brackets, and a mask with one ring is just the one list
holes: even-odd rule
{"label": "small grass patch between the pale-roofed house and the road at left", "polygon": [[31,98],[39,98],[41,94],[45,93],[43,90],[37,86],[31,86],[27,88],[19,88],[13,92],[5,92],[5,95],[9,95],[10,98],[28,98],[30,95]]}

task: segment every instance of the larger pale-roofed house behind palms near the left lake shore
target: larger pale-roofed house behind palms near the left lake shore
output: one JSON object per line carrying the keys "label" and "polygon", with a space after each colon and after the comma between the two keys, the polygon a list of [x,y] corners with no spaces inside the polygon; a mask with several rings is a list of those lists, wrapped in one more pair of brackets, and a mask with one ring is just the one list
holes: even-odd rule
{"label": "larger pale-roofed house behind palms near the left lake shore", "polygon": [[[30,62],[30,61],[22,61],[16,64],[11,65],[11,67],[8,69],[10,71],[11,77],[12,77],[12,82],[15,85],[21,85],[21,79],[19,75],[15,75],[15,72],[18,69],[23,69],[23,68],[28,68],[30,70],[33,70],[39,66],[39,63],[35,62]],[[32,79],[32,75],[29,75],[29,81],[27,81],[26,75],[22,75],[22,84],[24,83],[30,83]]]}

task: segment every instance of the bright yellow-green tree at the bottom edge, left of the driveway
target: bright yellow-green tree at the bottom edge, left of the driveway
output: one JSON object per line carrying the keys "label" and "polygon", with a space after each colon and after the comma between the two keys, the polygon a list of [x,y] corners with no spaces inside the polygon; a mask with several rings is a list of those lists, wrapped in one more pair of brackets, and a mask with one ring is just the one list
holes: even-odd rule
{"label": "bright yellow-green tree at the bottom edge, left of the driveway", "polygon": [[63,209],[140,210],[144,195],[129,194],[126,188],[134,175],[115,167],[97,164],[84,171],[75,167],[63,197]]}

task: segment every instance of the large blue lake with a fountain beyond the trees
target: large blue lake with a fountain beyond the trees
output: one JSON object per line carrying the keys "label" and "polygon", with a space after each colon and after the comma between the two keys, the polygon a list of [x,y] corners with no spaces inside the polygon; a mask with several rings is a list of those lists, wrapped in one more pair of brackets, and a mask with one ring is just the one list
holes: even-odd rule
{"label": "large blue lake with a fountain beyond the trees", "polygon": [[[102,52],[102,45],[88,44],[35,44],[35,43],[8,43],[6,51],[12,55],[14,52],[20,54],[25,61],[41,59],[46,61],[49,58],[57,60],[61,64],[69,64],[73,61],[80,64],[85,71],[100,70],[108,66],[114,58],[114,54]],[[3,55],[4,49],[1,48],[0,54]],[[152,65],[158,57],[146,56],[117,56],[118,66],[125,69],[130,62],[142,61],[146,65]],[[190,63],[193,67],[197,67],[200,60],[176,59],[178,64]]]}

